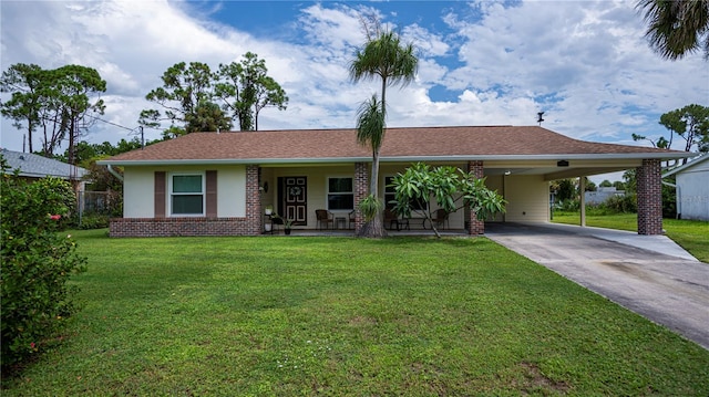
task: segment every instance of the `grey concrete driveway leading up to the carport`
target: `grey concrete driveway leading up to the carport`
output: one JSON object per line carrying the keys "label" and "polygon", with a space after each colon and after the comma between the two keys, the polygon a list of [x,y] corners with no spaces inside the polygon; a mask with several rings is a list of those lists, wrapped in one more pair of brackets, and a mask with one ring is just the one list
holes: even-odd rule
{"label": "grey concrete driveway leading up to the carport", "polygon": [[485,236],[709,349],[709,264],[669,238],[555,223]]}

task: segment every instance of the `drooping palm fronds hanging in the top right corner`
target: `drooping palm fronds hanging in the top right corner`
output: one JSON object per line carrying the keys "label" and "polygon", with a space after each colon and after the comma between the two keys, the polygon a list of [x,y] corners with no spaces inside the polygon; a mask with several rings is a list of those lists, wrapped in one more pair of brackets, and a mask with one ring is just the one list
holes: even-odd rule
{"label": "drooping palm fronds hanging in the top right corner", "polygon": [[646,36],[664,59],[678,60],[701,48],[709,60],[709,0],[639,0]]}

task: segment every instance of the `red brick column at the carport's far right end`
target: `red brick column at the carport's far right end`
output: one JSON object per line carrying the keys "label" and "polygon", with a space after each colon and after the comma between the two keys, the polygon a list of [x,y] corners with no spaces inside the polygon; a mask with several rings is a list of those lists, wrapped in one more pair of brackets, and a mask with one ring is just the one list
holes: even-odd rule
{"label": "red brick column at the carport's far right end", "polygon": [[662,234],[662,178],[660,160],[645,159],[636,170],[638,234]]}

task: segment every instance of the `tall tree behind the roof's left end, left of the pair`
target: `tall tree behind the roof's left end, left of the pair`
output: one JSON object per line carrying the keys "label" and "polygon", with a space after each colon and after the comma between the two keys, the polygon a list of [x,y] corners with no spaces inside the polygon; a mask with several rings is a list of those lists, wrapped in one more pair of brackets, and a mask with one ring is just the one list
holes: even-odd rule
{"label": "tall tree behind the roof's left end, left of the pair", "polygon": [[[169,127],[164,136],[184,135],[205,130],[204,128],[230,129],[232,122],[214,104],[214,82],[216,75],[209,65],[202,62],[179,62],[162,75],[163,86],[157,87],[145,98],[163,107],[141,112],[138,124],[160,128],[161,122],[168,121]],[[216,107],[216,108],[215,108]]]}

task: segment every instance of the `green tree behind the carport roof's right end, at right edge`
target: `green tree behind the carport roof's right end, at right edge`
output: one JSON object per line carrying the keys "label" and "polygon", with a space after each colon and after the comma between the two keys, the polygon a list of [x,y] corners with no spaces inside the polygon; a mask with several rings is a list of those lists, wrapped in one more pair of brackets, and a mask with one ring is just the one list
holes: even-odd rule
{"label": "green tree behind the carport roof's right end, at right edge", "polygon": [[[685,142],[685,152],[709,152],[709,107],[697,104],[687,105],[662,114],[659,124],[669,130],[669,138],[659,137],[653,140],[643,135],[633,134],[633,139],[649,140],[655,147],[670,149],[677,135]],[[687,163],[687,159],[684,163]]]}

